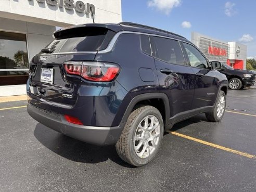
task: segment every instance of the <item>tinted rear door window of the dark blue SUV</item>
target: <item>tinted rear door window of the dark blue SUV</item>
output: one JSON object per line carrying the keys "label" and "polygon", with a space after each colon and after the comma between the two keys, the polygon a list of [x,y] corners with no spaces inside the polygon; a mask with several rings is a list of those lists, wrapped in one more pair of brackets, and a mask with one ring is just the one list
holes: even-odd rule
{"label": "tinted rear door window of the dark blue SUV", "polygon": [[181,46],[176,40],[165,39],[163,37],[153,37],[156,44],[157,58],[165,62],[185,65]]}

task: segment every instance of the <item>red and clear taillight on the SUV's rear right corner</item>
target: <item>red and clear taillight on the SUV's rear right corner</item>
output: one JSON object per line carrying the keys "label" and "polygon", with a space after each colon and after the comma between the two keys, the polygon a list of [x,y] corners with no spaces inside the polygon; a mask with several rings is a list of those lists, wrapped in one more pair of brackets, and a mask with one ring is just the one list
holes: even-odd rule
{"label": "red and clear taillight on the SUV's rear right corner", "polygon": [[68,74],[80,75],[89,81],[109,82],[120,72],[114,63],[92,61],[67,61],[63,63]]}

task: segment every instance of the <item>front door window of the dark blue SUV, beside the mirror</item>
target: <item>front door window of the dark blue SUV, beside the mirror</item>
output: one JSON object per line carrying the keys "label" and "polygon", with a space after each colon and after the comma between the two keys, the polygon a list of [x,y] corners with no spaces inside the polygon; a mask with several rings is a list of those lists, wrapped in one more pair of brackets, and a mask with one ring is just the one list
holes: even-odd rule
{"label": "front door window of the dark blue SUV, beside the mirror", "polygon": [[206,58],[192,45],[183,43],[185,50],[188,55],[190,66],[199,68],[208,68],[208,63]]}

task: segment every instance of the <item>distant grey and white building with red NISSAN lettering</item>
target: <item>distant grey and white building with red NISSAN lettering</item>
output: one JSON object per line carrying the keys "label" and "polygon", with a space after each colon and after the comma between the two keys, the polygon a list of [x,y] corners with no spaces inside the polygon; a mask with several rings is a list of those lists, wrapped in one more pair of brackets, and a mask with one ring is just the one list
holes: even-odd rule
{"label": "distant grey and white building with red NISSAN lettering", "polygon": [[247,46],[238,42],[225,42],[196,32],[193,42],[210,61],[221,61],[235,69],[246,69]]}

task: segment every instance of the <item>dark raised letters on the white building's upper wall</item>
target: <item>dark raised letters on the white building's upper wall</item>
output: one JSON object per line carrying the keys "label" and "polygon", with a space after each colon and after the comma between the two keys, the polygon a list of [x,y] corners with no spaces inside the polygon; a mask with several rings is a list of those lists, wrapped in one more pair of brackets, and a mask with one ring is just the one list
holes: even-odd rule
{"label": "dark raised letters on the white building's upper wall", "polygon": [[37,1],[38,3],[47,3],[51,6],[57,6],[59,8],[64,7],[68,10],[75,10],[77,12],[85,12],[85,14],[93,14],[95,15],[95,6],[89,3],[83,3],[82,1],[74,1],[74,0],[28,0],[28,1]]}

